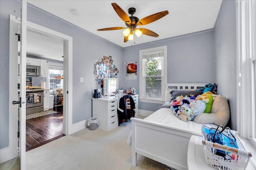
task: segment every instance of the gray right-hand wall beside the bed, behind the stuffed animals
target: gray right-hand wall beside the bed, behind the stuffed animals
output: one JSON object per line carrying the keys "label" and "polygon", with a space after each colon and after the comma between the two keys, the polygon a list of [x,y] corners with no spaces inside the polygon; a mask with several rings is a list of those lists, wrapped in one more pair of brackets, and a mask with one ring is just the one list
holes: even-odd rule
{"label": "gray right-hand wall beside the bed, behind the stuffed animals", "polygon": [[228,99],[231,128],[236,130],[236,4],[224,0],[214,25],[218,93]]}

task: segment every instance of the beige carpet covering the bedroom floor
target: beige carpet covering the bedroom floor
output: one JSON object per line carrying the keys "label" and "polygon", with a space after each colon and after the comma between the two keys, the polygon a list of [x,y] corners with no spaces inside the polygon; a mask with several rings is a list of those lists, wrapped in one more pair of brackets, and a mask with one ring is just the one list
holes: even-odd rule
{"label": "beige carpet covering the bedroom floor", "polygon": [[138,165],[132,166],[132,147],[127,147],[131,124],[109,132],[86,128],[32,149],[26,152],[26,170],[167,170],[139,154]]}

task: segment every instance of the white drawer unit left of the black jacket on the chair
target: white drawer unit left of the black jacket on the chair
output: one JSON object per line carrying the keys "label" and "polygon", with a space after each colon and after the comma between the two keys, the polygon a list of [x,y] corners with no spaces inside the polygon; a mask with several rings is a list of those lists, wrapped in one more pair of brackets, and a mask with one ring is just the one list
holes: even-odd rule
{"label": "white drawer unit left of the black jacket on the chair", "polygon": [[92,116],[98,117],[98,128],[110,131],[118,127],[118,100],[119,98],[92,98]]}

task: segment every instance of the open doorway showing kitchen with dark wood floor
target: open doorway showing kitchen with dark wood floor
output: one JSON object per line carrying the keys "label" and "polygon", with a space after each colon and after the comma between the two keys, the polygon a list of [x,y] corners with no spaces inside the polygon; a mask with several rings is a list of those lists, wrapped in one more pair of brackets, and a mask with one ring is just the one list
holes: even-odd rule
{"label": "open doorway showing kitchen with dark wood floor", "polygon": [[63,77],[65,70],[62,39],[28,29],[26,44],[29,61],[27,64],[30,64],[30,60],[41,62],[40,76],[26,77],[31,79],[27,88],[41,86],[40,88],[44,90],[42,92],[44,109],[30,112],[30,114],[27,112],[26,115],[26,151],[28,151],[64,136]]}

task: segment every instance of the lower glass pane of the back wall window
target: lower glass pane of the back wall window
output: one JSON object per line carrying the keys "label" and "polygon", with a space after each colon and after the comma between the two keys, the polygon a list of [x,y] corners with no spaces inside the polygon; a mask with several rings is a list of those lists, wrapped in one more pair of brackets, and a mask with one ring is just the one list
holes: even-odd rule
{"label": "lower glass pane of the back wall window", "polygon": [[162,98],[162,77],[146,77],[146,97]]}

